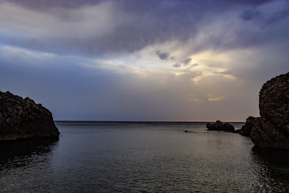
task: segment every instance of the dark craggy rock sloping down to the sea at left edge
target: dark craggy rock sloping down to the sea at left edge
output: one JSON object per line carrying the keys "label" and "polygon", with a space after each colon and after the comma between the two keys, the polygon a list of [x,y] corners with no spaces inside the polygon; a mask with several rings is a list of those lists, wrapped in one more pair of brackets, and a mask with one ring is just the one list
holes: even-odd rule
{"label": "dark craggy rock sloping down to the sea at left edge", "polygon": [[30,98],[0,91],[0,141],[58,137],[51,112]]}

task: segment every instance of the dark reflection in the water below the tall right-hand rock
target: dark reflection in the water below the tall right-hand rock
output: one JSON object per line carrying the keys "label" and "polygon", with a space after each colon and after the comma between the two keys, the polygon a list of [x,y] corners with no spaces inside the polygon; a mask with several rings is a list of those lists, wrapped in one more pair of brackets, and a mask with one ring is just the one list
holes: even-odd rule
{"label": "dark reflection in the water below the tall right-hand rock", "polygon": [[288,150],[254,147],[252,158],[260,192],[288,192]]}

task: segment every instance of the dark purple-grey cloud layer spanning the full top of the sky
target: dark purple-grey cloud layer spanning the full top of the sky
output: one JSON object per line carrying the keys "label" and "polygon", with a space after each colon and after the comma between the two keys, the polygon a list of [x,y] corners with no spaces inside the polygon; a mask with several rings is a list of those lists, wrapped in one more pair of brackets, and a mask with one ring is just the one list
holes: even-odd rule
{"label": "dark purple-grey cloud layer spanning the full top of the sky", "polygon": [[[19,7],[12,13],[15,14],[14,17],[3,18],[3,15],[1,16],[5,19],[1,29],[4,33],[6,32],[5,36],[1,36],[1,41],[39,51],[91,56],[106,53],[131,53],[154,43],[172,40],[185,43],[189,38],[194,38],[200,33],[207,33],[202,29],[218,23],[218,19],[229,21],[230,18],[227,16],[219,17],[220,14],[226,12],[231,14],[229,17],[240,22],[240,25],[244,27],[249,27],[251,24],[244,24],[242,20],[254,22],[254,26],[260,27],[248,33],[244,27],[239,28],[238,24],[232,26],[230,22],[225,22],[222,28],[230,31],[214,32],[212,36],[207,34],[207,41],[196,43],[194,49],[191,50],[192,53],[208,48],[232,49],[260,45],[271,41],[272,38],[284,38],[285,33],[276,34],[275,32],[272,36],[270,30],[264,31],[262,27],[281,22],[282,19],[288,17],[289,13],[289,9],[286,8],[279,12],[259,10],[260,6],[264,7],[266,3],[271,3],[270,1],[258,1],[254,5],[250,1],[236,3],[210,1],[209,6],[207,1],[12,2],[18,4]],[[5,4],[5,1],[2,1],[1,6],[15,7],[12,3]],[[45,9],[45,6],[48,8]],[[24,12],[23,10],[27,7],[29,10]],[[32,11],[35,16],[29,15],[29,11]],[[37,15],[42,16],[37,18]],[[17,21],[20,17],[22,19]],[[288,32],[288,28],[284,26],[283,31]],[[10,33],[13,29],[18,30]],[[262,36],[260,36],[261,32]],[[34,41],[31,41],[32,39]],[[166,59],[165,54],[166,52],[160,53],[159,57]]]}

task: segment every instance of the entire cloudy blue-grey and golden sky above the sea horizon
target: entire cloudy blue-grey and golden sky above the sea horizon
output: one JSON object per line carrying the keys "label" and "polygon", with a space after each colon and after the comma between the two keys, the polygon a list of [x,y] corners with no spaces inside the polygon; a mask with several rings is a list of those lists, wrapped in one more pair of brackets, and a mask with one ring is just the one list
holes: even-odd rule
{"label": "entire cloudy blue-grey and golden sky above the sea horizon", "polygon": [[54,120],[245,122],[288,62],[288,0],[0,0],[1,91]]}

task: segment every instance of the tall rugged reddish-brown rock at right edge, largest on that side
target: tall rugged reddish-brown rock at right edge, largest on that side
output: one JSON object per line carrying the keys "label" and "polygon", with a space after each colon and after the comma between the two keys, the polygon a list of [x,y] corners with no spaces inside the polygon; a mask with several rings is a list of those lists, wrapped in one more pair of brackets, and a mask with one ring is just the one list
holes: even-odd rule
{"label": "tall rugged reddish-brown rock at right edge, largest on that side", "polygon": [[259,92],[261,118],[252,122],[255,146],[289,149],[289,73],[268,80]]}

